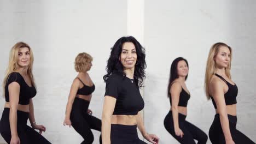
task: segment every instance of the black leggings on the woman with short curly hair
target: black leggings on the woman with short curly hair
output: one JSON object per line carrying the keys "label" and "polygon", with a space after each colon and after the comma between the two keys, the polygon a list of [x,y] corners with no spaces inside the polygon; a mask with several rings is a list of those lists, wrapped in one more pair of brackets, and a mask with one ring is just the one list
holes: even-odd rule
{"label": "black leggings on the woman with short curly hair", "polygon": [[[76,97],[70,115],[72,127],[84,138],[82,142],[84,144],[94,141],[91,129],[101,131],[101,120],[87,113],[89,104],[90,101]],[[100,143],[102,143],[101,136]]]}

